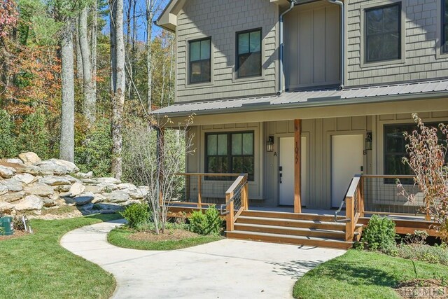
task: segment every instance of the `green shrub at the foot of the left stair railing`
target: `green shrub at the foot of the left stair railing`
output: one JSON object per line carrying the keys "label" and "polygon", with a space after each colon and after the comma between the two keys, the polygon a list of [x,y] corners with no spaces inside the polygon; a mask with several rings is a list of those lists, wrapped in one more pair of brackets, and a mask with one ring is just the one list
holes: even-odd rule
{"label": "green shrub at the foot of the left stair railing", "polygon": [[211,205],[205,213],[193,211],[190,217],[190,230],[200,235],[219,235],[223,220],[219,211]]}

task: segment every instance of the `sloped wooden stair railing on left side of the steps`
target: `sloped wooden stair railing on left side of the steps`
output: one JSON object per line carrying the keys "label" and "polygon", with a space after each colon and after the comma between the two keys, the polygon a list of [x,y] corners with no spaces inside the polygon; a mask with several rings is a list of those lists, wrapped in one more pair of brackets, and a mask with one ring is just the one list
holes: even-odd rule
{"label": "sloped wooden stair railing on left side of the steps", "polygon": [[[223,211],[225,207],[225,212]],[[221,205],[221,214],[226,215],[226,230],[234,230],[235,221],[241,213],[248,209],[247,174],[241,174],[225,193],[225,204]],[[235,212],[236,211],[236,212]]]}

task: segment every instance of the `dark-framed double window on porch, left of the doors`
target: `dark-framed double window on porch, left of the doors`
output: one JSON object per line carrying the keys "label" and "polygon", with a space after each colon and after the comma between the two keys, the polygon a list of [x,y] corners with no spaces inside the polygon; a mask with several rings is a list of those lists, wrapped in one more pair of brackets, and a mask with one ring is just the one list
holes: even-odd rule
{"label": "dark-framed double window on porch, left of the doors", "polygon": [[247,173],[253,181],[253,132],[208,133],[205,169],[208,173]]}

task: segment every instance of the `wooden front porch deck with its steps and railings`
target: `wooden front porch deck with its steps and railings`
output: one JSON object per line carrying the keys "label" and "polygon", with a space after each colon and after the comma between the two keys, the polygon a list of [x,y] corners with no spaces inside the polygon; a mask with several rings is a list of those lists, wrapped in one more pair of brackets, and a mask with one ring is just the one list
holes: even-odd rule
{"label": "wooden front porch deck with its steps and railings", "polygon": [[[188,177],[188,174],[182,175]],[[215,189],[212,181],[209,181],[207,192],[203,192],[201,177],[209,174],[192,175],[199,176],[197,188],[190,188],[186,180],[188,200],[170,202],[169,216],[188,217],[193,211],[204,211],[216,205],[221,210],[221,218],[225,219],[226,236],[230,238],[349,249],[354,241],[360,239],[363,227],[373,214],[391,218],[398,234],[425,230],[428,235],[437,237],[434,229],[436,223],[430,221],[428,214],[418,214],[422,211],[421,203],[403,202],[397,195],[397,187],[389,183],[394,179],[392,176],[354,176],[340,209],[336,211],[302,208],[296,201],[295,207],[249,207],[247,174],[231,174],[237,179],[228,183],[231,186],[224,198],[208,195],[213,193],[210,190]],[[213,174],[214,179],[219,175]],[[412,176],[400,178],[411,179]],[[223,189],[220,184],[217,186],[219,190]],[[411,184],[405,188],[408,193],[419,193],[418,188]],[[194,197],[191,200],[192,189],[193,193],[197,191],[196,200]]]}

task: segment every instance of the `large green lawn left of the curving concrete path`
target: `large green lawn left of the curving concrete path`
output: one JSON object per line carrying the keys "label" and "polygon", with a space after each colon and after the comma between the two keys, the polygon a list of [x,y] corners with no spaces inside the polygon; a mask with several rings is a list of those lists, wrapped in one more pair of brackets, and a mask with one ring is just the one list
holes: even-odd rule
{"label": "large green lawn left of the curving concrete path", "polygon": [[34,234],[0,242],[0,298],[109,298],[116,281],[59,245],[62,235],[118,214],[31,220]]}

